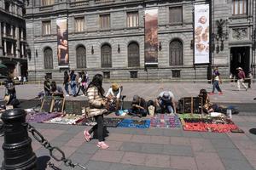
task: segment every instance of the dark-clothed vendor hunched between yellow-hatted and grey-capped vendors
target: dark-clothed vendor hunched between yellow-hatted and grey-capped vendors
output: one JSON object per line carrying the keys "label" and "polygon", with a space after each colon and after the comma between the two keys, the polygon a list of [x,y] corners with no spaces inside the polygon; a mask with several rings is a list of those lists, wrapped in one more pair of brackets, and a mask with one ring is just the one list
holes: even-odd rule
{"label": "dark-clothed vendor hunched between yellow-hatted and grey-capped vendors", "polygon": [[146,107],[147,105],[145,99],[139,97],[138,95],[134,95],[129,113],[131,113],[131,115],[147,116]]}

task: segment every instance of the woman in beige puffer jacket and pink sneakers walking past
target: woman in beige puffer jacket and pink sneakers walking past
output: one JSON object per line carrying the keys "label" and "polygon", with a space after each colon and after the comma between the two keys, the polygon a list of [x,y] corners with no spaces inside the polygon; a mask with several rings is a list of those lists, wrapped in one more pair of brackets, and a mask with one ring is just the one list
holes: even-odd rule
{"label": "woman in beige puffer jacket and pink sneakers walking past", "polygon": [[89,142],[90,133],[93,133],[96,130],[99,140],[97,146],[102,149],[107,149],[109,146],[108,144],[105,144],[103,137],[103,114],[107,112],[107,109],[106,101],[103,97],[105,91],[102,88],[102,80],[102,75],[96,74],[86,89],[89,102],[89,116],[94,116],[97,124],[94,127],[91,127],[89,131],[84,130],[84,138]]}

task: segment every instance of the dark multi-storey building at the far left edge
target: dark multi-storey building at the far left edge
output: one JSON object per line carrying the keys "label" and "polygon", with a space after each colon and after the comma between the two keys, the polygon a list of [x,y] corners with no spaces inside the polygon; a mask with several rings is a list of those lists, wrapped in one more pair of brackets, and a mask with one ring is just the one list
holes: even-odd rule
{"label": "dark multi-storey building at the far left edge", "polygon": [[0,1],[0,62],[15,70],[15,77],[27,72],[25,13],[21,0]]}

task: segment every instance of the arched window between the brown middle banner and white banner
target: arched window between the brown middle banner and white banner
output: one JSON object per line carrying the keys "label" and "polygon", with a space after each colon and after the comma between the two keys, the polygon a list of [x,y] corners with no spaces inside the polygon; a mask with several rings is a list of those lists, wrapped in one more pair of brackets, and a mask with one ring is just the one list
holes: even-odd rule
{"label": "arched window between the brown middle banner and white banner", "polygon": [[183,43],[174,40],[170,43],[170,65],[183,65]]}

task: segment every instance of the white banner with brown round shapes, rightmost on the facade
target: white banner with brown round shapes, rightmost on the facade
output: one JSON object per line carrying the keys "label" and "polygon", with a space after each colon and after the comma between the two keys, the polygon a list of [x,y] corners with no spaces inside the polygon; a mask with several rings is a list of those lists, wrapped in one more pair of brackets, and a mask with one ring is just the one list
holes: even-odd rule
{"label": "white banner with brown round shapes, rightmost on the facade", "polygon": [[210,58],[209,4],[195,5],[194,64],[207,64]]}

